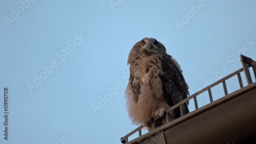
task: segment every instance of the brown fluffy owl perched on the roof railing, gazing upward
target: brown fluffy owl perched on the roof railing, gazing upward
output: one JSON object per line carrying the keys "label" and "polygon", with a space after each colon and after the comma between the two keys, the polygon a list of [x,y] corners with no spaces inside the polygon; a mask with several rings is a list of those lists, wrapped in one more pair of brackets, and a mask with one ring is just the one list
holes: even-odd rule
{"label": "brown fluffy owl perched on the roof railing, gazing upward", "polygon": [[[130,78],[125,90],[126,107],[133,124],[153,129],[166,123],[166,110],[189,95],[188,85],[178,62],[166,53],[162,43],[154,38],[137,42],[129,56]],[[183,105],[188,113],[188,102]],[[180,117],[180,109],[169,113],[169,119]]]}

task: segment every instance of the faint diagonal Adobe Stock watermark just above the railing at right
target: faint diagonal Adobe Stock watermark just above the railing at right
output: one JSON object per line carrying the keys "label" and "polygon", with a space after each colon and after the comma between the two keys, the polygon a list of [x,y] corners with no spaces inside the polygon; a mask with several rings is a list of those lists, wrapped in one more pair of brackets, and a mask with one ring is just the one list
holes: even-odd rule
{"label": "faint diagonal Adobe Stock watermark just above the railing at right", "polygon": [[[256,41],[252,41],[252,38],[250,39],[244,39],[245,43],[243,44],[243,47],[239,49],[236,53],[232,53],[229,55],[226,60],[227,62],[231,63],[231,66],[234,66],[237,64],[237,62],[240,62],[240,55],[246,55],[246,52],[250,51],[252,47],[256,44]],[[224,74],[228,73],[229,69],[228,66],[223,65],[221,66],[220,70],[212,71],[212,74],[214,76],[210,77],[209,80],[204,79],[204,85],[203,87],[206,87],[212,83],[217,82],[218,80],[222,79]],[[197,90],[201,90],[202,88],[198,87]],[[200,95],[202,98],[202,95]]]}

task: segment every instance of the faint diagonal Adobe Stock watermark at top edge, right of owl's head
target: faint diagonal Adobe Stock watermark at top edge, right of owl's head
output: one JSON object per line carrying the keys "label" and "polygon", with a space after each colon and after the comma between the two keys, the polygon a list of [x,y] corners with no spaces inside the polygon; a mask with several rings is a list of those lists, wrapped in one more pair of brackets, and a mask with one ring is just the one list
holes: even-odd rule
{"label": "faint diagonal Adobe Stock watermark at top edge, right of owl's head", "polygon": [[201,8],[204,8],[206,6],[206,3],[204,0],[200,0],[198,2],[198,5],[195,6],[189,6],[190,10],[185,14],[181,14],[181,22],[174,21],[174,26],[178,32],[180,32],[180,28],[184,28],[185,25],[187,25],[191,19],[195,18],[196,14],[198,14],[201,11]]}

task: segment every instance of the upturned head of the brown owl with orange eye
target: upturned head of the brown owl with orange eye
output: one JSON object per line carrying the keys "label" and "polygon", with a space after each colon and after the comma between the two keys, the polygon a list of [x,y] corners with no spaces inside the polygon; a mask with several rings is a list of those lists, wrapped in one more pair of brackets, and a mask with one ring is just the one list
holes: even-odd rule
{"label": "upturned head of the brown owl with orange eye", "polygon": [[148,57],[159,53],[166,53],[164,45],[161,42],[157,41],[155,38],[145,37],[135,43],[128,56],[127,63],[131,63],[133,59],[136,59],[138,57]]}

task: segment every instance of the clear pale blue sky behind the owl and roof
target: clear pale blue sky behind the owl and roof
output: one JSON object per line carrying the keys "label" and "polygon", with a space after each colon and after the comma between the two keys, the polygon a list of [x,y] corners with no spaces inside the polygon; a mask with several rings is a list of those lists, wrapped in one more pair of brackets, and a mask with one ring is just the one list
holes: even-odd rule
{"label": "clear pale blue sky behind the owl and roof", "polygon": [[5,140],[1,116],[0,143],[120,143],[137,127],[124,99],[132,46],[144,37],[162,42],[193,94],[241,68],[236,55],[256,59],[255,6],[253,0],[1,1],[0,115],[8,87],[9,127]]}

